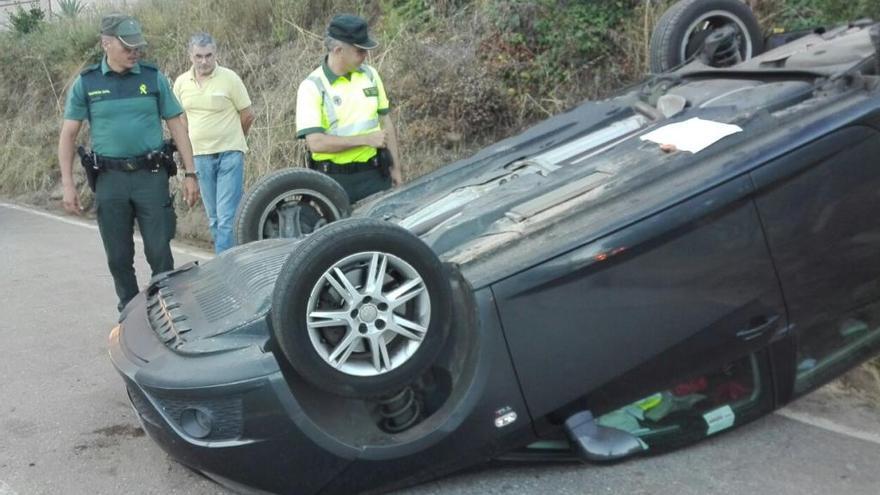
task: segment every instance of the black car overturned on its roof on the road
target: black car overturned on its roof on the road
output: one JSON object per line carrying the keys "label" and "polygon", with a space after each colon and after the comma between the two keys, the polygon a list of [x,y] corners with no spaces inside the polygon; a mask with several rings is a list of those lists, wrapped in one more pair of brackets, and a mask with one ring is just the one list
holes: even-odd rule
{"label": "black car overturned on its roof on the road", "polygon": [[253,242],[111,333],[144,429],[231,486],[380,491],[678,447],[875,354],[880,27],[752,57],[682,9],[683,66],[353,210],[317,172],[263,180]]}

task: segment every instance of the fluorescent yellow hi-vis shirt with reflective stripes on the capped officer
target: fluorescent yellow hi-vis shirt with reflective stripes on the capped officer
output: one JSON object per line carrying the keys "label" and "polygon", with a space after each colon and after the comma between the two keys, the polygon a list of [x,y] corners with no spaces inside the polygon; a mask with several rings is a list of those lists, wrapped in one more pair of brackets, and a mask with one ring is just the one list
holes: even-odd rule
{"label": "fluorescent yellow hi-vis shirt with reflective stripes on the capped officer", "polygon": [[[385,87],[375,69],[365,64],[350,74],[337,76],[325,59],[296,92],[296,137],[302,139],[315,132],[335,136],[369,134],[380,129],[379,116],[388,111]],[[312,153],[312,158],[344,165],[365,162],[375,155],[376,148],[358,146],[338,153]]]}

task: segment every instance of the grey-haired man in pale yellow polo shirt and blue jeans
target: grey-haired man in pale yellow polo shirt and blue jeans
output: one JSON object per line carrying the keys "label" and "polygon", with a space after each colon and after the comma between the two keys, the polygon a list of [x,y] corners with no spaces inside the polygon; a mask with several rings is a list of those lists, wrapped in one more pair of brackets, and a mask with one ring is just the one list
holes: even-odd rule
{"label": "grey-haired man in pale yellow polo shirt and blue jeans", "polygon": [[186,112],[214,251],[233,246],[232,221],[244,189],[245,140],[255,116],[238,74],[217,65],[216,43],[198,33],[189,42],[192,68],[174,81]]}

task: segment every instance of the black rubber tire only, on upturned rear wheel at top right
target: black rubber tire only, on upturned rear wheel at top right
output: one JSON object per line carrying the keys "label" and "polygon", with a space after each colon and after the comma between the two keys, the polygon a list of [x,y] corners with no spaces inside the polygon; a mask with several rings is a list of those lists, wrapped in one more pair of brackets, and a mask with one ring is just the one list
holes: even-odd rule
{"label": "black rubber tire only, on upturned rear wheel at top right", "polygon": [[681,0],[663,13],[651,33],[649,61],[652,73],[669,72],[684,62],[678,59],[678,47],[687,34],[685,30],[699,16],[713,10],[725,10],[743,22],[752,41],[752,57],[764,50],[761,26],[752,10],[741,0]]}

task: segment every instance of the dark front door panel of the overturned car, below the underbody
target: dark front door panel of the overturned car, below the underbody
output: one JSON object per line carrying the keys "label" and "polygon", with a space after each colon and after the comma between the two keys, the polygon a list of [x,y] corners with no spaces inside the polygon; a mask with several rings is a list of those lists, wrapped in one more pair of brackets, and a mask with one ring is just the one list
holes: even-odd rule
{"label": "dark front door panel of the overturned car, below the underbody", "polygon": [[619,407],[785,328],[752,192],[741,176],[493,286],[534,417],[597,390],[584,407]]}

